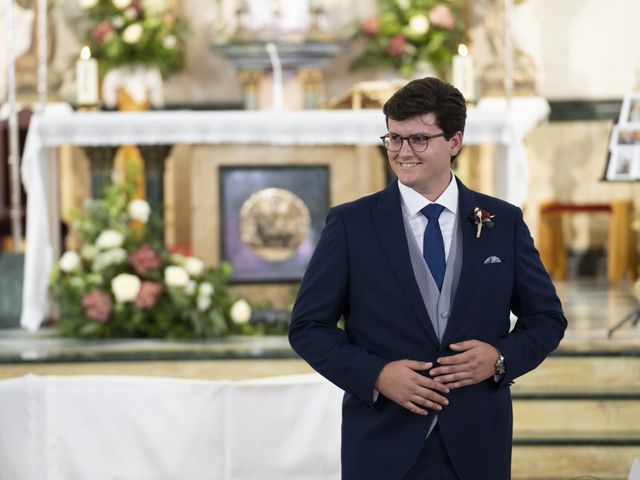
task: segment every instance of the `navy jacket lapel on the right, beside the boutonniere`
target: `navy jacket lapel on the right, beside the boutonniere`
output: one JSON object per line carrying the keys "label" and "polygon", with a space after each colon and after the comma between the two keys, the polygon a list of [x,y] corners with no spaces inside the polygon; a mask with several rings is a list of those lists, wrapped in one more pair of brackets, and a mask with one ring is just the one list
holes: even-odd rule
{"label": "navy jacket lapel on the right, beside the boutonniere", "polygon": [[456,180],[459,188],[458,220],[462,226],[462,272],[449,319],[451,328],[447,328],[445,332],[443,345],[448,345],[451,332],[455,330],[456,325],[459,325],[462,319],[467,318],[467,309],[478,285],[487,238],[486,235],[480,235],[480,238],[476,238],[476,227],[469,223],[473,209],[482,207],[482,205],[478,202],[475,192],[465,187],[457,178]]}

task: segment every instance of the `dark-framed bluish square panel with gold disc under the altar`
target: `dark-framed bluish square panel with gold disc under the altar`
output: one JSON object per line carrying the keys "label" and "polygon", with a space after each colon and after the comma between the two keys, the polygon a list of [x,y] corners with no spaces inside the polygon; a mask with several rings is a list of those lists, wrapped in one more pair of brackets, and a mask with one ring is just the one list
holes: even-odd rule
{"label": "dark-framed bluish square panel with gold disc under the altar", "polygon": [[327,166],[221,167],[222,259],[234,282],[299,281],[329,209]]}

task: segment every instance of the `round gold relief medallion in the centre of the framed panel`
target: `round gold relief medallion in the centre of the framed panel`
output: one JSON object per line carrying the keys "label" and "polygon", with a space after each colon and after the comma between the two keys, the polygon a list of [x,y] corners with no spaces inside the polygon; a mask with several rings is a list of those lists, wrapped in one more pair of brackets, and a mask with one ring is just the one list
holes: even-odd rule
{"label": "round gold relief medallion in the centre of the framed panel", "polygon": [[282,188],[265,188],[251,195],[240,209],[240,238],[270,262],[293,256],[311,228],[304,201]]}

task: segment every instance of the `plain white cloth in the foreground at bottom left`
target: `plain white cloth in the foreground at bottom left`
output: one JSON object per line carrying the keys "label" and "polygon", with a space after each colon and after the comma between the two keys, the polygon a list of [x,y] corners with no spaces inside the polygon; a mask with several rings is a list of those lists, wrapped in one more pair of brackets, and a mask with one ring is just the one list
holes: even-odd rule
{"label": "plain white cloth in the foreground at bottom left", "polygon": [[317,374],[3,380],[0,478],[339,480],[341,405]]}

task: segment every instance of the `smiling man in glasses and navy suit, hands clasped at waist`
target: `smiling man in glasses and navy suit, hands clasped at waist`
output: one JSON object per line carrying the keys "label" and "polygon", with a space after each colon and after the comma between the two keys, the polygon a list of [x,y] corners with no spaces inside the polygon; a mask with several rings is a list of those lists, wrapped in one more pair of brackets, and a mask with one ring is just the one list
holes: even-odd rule
{"label": "smiling man in glasses and navy suit, hands clasped at waist", "polygon": [[384,114],[398,181],[329,212],[291,345],[345,391],[343,479],[508,479],[509,386],[558,346],[560,301],[521,210],[451,171],[461,93],[414,80]]}

